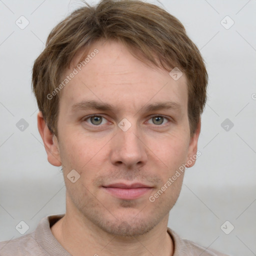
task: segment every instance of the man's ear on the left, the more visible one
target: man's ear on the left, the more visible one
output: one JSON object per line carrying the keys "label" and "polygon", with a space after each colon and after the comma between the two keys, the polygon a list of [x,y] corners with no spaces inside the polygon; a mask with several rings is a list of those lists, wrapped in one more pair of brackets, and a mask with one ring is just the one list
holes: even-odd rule
{"label": "man's ear on the left, the more visible one", "polygon": [[48,162],[54,166],[60,166],[61,161],[57,137],[49,130],[47,124],[43,119],[41,111],[39,111],[37,114],[37,127],[43,140],[44,148],[47,153]]}

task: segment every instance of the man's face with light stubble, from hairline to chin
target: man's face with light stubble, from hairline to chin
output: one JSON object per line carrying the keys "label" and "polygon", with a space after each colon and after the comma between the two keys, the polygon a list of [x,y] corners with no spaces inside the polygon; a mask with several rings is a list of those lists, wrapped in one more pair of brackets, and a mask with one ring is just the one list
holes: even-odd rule
{"label": "man's face with light stubble, from hairline to chin", "polygon": [[48,160],[62,164],[67,213],[111,234],[144,234],[167,223],[183,172],[169,178],[196,153],[186,78],[174,80],[117,42],[98,41],[89,53],[95,48],[61,91],[58,150]]}

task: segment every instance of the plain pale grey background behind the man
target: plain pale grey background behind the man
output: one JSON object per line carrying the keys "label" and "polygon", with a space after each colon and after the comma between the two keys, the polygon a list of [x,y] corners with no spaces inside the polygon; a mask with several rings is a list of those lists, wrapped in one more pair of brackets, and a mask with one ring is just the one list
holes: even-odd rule
{"label": "plain pale grey background behind the man", "polygon": [[[205,247],[256,255],[256,0],[148,2],[184,24],[209,74],[201,156],[186,170],[168,225]],[[21,220],[28,233],[42,217],[65,211],[60,167],[47,162],[37,131],[31,68],[53,26],[81,4],[0,0],[0,240],[20,236],[15,226]],[[15,24],[21,15],[29,21],[24,29]],[[226,15],[234,21],[229,29]],[[23,131],[21,118],[28,124]],[[226,220],[234,226],[229,234],[220,228]]]}

